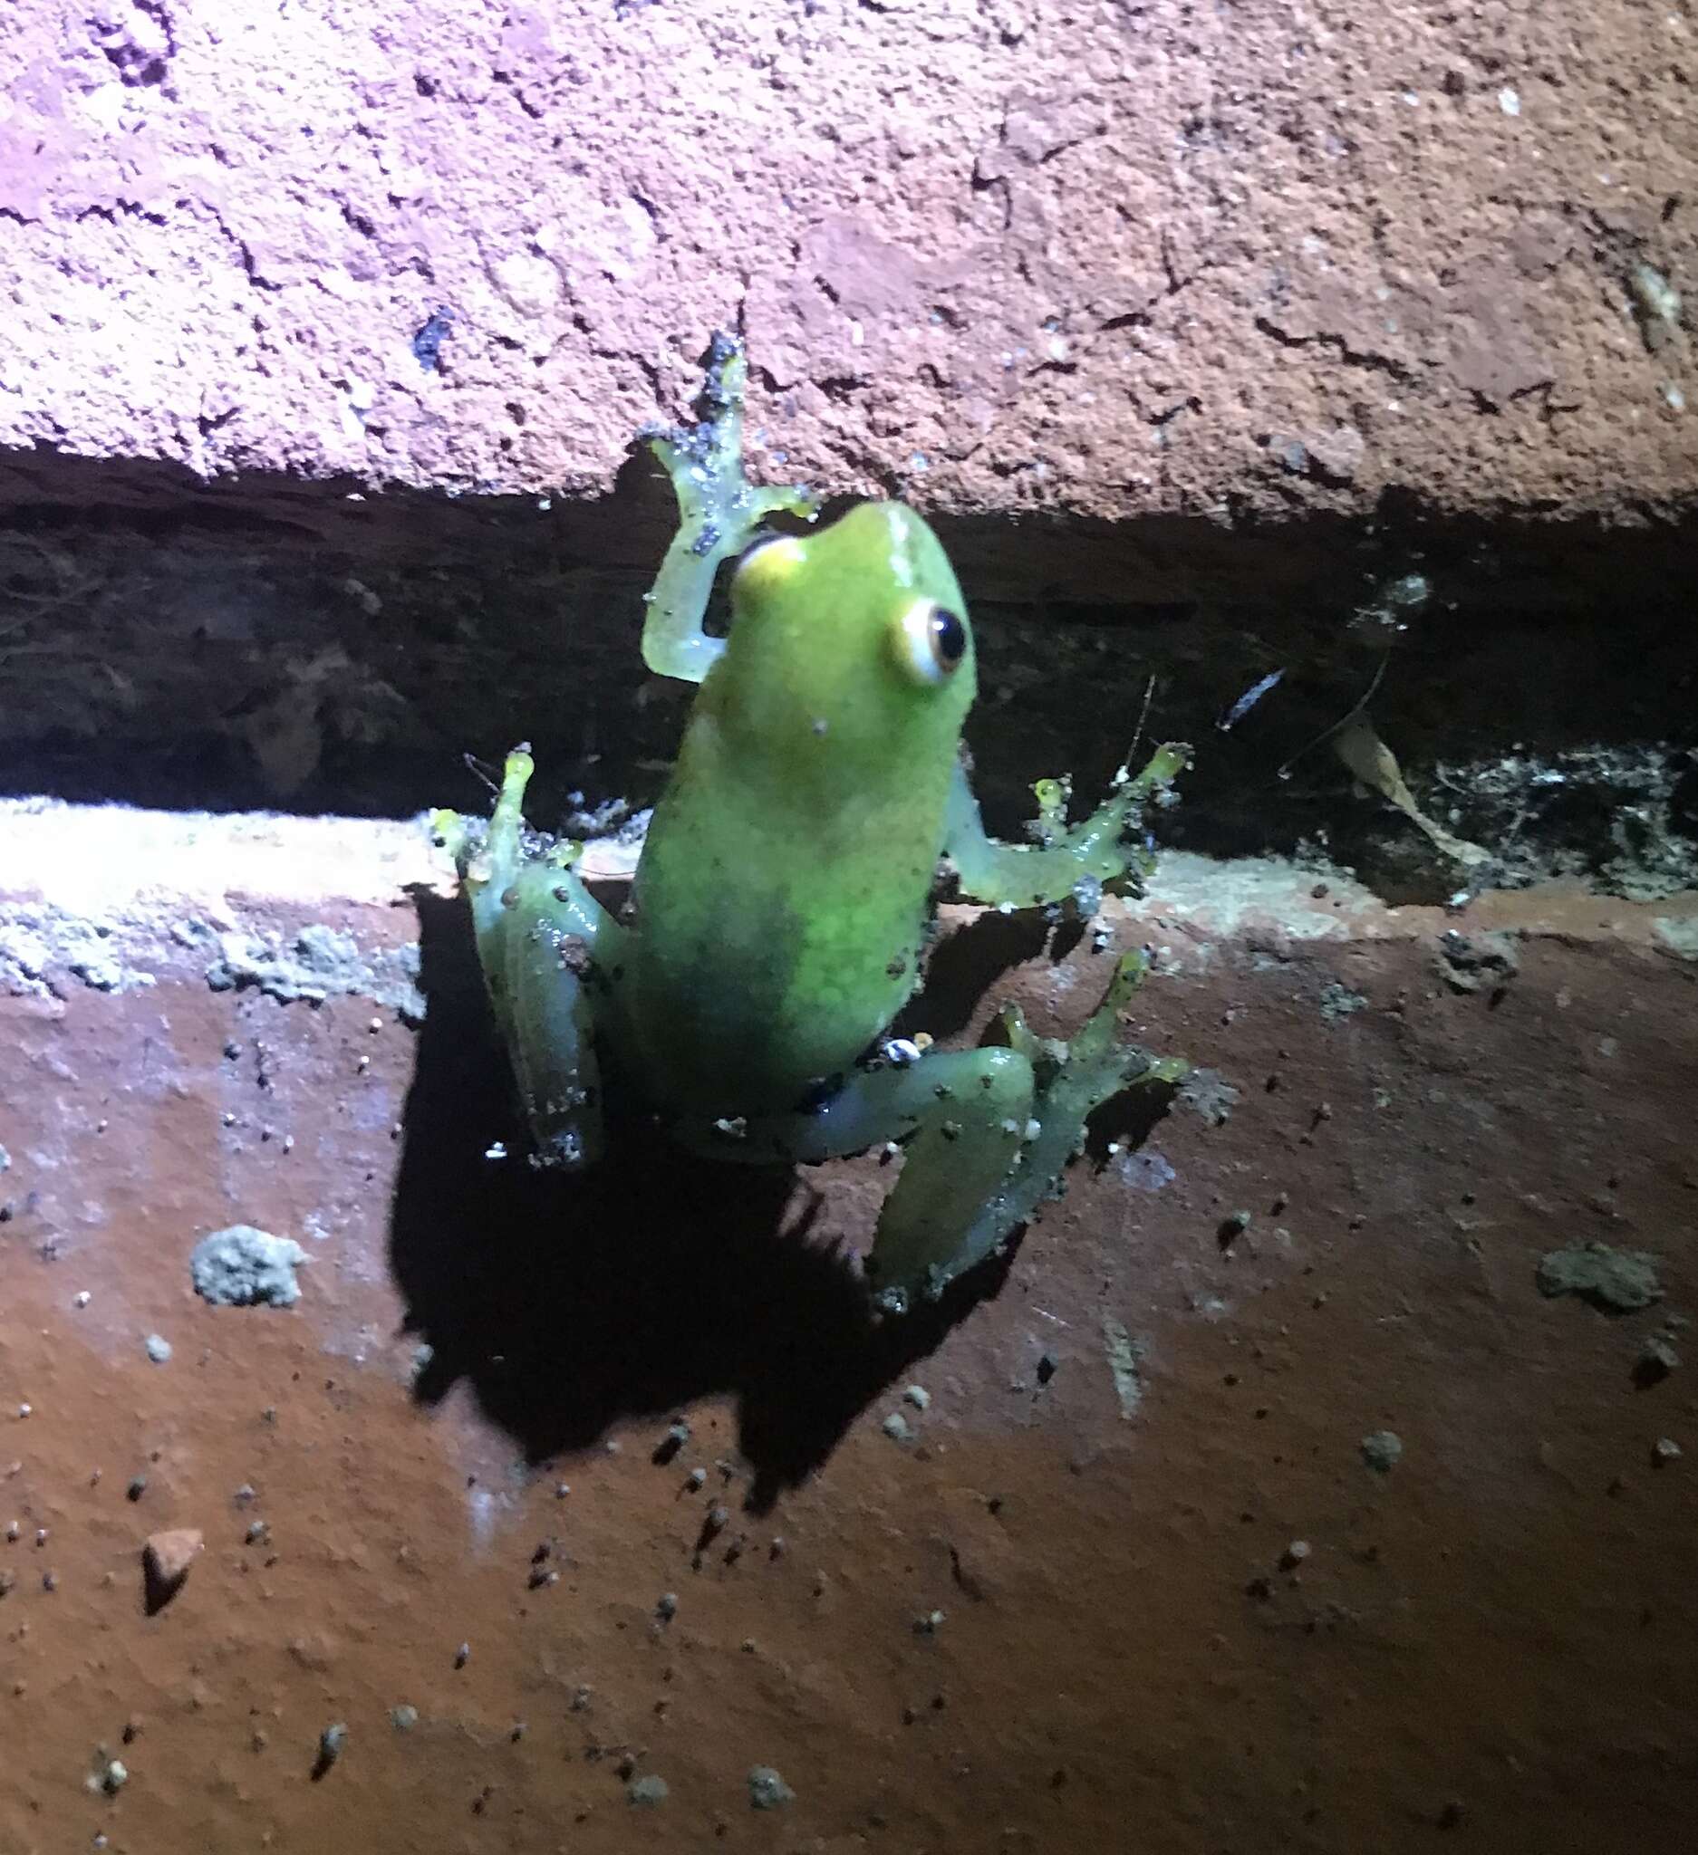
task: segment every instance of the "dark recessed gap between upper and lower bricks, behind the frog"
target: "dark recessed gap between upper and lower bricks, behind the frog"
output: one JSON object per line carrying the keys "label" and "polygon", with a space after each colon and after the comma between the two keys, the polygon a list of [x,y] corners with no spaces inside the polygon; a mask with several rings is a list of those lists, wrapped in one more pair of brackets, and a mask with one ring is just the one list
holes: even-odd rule
{"label": "dark recessed gap between upper and lower bricks, behind the frog", "polygon": [[[0,792],[471,809],[464,757],[494,764],[529,738],[538,822],[650,803],[690,699],[637,653],[666,484],[633,462],[614,495],[549,508],[358,495],[48,454],[0,466]],[[1371,529],[937,527],[980,631],[969,742],[1006,835],[1041,775],[1100,792],[1143,720],[1141,749],[1197,748],[1164,842],[1446,894],[1462,872],[1325,738],[1371,692],[1416,801],[1486,844],[1498,879],[1568,872],[1635,894],[1698,874],[1692,523],[1397,508]]]}

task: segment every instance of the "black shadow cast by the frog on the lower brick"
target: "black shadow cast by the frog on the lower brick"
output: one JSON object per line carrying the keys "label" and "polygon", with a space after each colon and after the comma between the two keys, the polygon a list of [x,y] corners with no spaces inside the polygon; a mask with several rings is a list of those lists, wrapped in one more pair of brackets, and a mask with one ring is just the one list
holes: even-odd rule
{"label": "black shadow cast by the frog on the lower brick", "polygon": [[[878,1323],[850,1260],[811,1235],[818,1204],[789,1174],[692,1159],[640,1130],[583,1174],[536,1171],[468,911],[429,892],[416,902],[431,1011],[403,1115],[390,1263],[406,1326],[432,1349],[419,1401],[466,1378],[540,1464],[622,1419],[731,1393],[750,1506],[770,1508],[997,1293],[1008,1260],[935,1308]],[[1000,963],[1006,933],[991,939],[982,952]],[[965,981],[985,961],[963,953],[952,965]]]}

